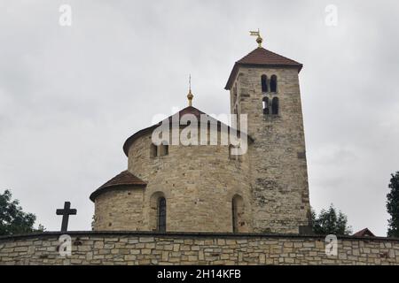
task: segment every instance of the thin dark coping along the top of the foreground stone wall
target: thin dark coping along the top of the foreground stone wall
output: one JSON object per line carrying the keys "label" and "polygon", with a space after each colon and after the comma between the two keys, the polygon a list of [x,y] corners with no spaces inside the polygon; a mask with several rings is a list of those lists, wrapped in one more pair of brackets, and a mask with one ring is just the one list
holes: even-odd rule
{"label": "thin dark coping along the top of the foreground stone wall", "polygon": [[[15,235],[0,236],[0,241],[10,241],[29,238],[49,238],[68,234],[70,236],[147,236],[159,238],[229,238],[229,239],[245,239],[245,238],[269,238],[269,239],[325,239],[325,235],[312,234],[278,234],[278,233],[205,233],[205,232],[168,232],[156,233],[146,231],[67,231],[67,232],[41,232],[41,233],[23,233]],[[357,237],[357,236],[337,236],[339,240],[362,240],[362,241],[397,241],[399,238],[387,237]]]}

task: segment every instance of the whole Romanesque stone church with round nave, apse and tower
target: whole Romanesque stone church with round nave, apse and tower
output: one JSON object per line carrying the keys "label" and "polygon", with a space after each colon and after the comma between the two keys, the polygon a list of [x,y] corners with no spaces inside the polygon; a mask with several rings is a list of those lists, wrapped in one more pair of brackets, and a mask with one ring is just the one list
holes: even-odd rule
{"label": "whole Romanesque stone church with round nave, apse and tower", "polygon": [[[201,132],[208,138],[236,130],[247,137],[245,153],[231,154],[234,147],[223,142],[154,143],[160,124],[132,134],[123,144],[127,169],[90,195],[95,231],[311,231],[302,65],[264,49],[256,35],[258,47],[233,65],[224,87],[231,114],[246,115],[246,126],[216,120],[217,126]],[[187,97],[189,106],[165,119],[168,123],[187,115],[208,117],[192,106],[191,89]]]}

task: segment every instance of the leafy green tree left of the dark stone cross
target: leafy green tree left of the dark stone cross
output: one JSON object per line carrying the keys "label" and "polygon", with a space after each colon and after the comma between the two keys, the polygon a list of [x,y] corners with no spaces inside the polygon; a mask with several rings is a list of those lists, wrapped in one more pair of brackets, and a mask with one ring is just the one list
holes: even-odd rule
{"label": "leafy green tree left of the dark stone cross", "polygon": [[44,231],[44,227],[39,225],[34,228],[35,214],[26,213],[20,207],[20,201],[12,200],[12,193],[5,190],[0,194],[0,235],[12,235],[17,233],[32,233]]}

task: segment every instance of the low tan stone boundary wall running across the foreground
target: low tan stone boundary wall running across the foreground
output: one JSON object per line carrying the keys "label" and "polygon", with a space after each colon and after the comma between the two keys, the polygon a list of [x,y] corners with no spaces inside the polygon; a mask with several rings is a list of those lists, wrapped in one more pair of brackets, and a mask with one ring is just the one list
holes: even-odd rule
{"label": "low tan stone boundary wall running across the foreground", "polygon": [[399,264],[399,239],[343,237],[326,256],[317,236],[70,232],[72,255],[59,256],[59,234],[0,237],[0,265]]}

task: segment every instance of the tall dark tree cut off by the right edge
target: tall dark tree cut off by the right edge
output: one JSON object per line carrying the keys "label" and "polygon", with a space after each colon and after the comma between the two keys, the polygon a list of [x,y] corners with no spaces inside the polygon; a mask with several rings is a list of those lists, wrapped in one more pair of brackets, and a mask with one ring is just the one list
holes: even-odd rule
{"label": "tall dark tree cut off by the right edge", "polygon": [[387,212],[391,218],[388,220],[387,236],[399,238],[399,172],[391,174],[388,187],[391,191],[387,194]]}

